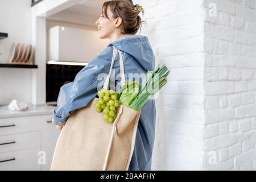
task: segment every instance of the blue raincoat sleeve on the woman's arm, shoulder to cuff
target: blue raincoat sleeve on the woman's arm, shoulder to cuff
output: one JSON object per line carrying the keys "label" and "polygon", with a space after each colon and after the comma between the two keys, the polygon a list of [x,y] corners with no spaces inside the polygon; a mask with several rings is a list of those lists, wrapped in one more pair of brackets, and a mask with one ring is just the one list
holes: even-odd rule
{"label": "blue raincoat sleeve on the woman's arm, shoulder to cuff", "polygon": [[97,96],[97,88],[103,85],[98,76],[109,73],[112,53],[113,48],[107,47],[77,73],[73,82],[61,86],[52,123],[65,125],[69,115]]}

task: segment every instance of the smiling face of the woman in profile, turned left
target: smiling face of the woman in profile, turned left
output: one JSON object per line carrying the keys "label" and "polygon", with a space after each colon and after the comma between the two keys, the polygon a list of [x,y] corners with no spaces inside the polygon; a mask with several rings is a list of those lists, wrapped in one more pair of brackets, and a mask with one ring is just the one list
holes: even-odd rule
{"label": "smiling face of the woman in profile, turned left", "polygon": [[101,14],[100,18],[96,21],[96,25],[98,26],[98,34],[100,39],[108,39],[113,34],[113,29],[115,27],[115,19],[113,19],[113,13],[110,9],[107,9],[108,18],[106,15]]}

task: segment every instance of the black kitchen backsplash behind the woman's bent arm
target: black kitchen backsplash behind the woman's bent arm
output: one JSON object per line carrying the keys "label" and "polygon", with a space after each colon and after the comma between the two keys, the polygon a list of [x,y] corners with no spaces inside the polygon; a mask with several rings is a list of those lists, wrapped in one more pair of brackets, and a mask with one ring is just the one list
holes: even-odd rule
{"label": "black kitchen backsplash behind the woman's bent arm", "polygon": [[81,65],[46,65],[46,102],[56,102],[60,88],[68,82],[74,81],[77,73],[84,66]]}

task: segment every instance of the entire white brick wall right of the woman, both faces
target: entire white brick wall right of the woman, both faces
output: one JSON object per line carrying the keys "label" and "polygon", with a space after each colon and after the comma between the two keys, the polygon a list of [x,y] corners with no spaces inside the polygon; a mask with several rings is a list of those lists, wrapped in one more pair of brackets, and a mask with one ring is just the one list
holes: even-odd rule
{"label": "entire white brick wall right of the woman, both faces", "polygon": [[152,169],[256,170],[255,2],[134,0],[156,64],[171,69]]}

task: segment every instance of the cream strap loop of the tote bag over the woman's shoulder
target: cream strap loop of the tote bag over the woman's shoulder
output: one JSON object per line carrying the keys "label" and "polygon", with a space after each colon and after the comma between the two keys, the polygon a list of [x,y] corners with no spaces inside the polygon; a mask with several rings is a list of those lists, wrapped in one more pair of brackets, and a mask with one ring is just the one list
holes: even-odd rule
{"label": "cream strap loop of the tote bag over the woman's shoulder", "polygon": [[119,51],[117,48],[113,47],[113,56],[112,56],[112,61],[111,61],[111,65],[110,65],[110,71],[109,71],[109,75],[106,77],[106,80],[104,82],[103,89],[108,90],[108,88],[109,88],[109,80],[110,80],[110,76],[111,76],[112,71],[113,71],[113,66],[114,66],[115,57],[117,55],[117,52],[119,53],[119,67],[120,67],[121,86],[125,85],[125,69],[123,67],[123,56],[122,56],[121,51]]}

